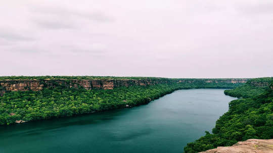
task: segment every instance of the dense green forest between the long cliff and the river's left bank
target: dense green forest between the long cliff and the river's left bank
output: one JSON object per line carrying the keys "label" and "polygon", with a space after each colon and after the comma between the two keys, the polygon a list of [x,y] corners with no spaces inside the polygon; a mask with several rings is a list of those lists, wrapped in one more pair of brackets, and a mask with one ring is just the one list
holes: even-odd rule
{"label": "dense green forest between the long cliff and the river's left bank", "polygon": [[[9,77],[9,79],[18,78],[20,77]],[[41,77],[37,78],[41,79]],[[53,77],[53,79],[57,78]],[[73,79],[73,77],[68,78]],[[205,82],[203,79],[187,79],[186,82],[180,83],[171,81],[168,84],[117,87],[113,90],[86,90],[59,85],[56,88],[44,88],[41,91],[12,91],[0,97],[0,125],[13,124],[16,120],[34,121],[143,105],[177,89],[234,88],[239,85],[241,83],[215,83]]]}

